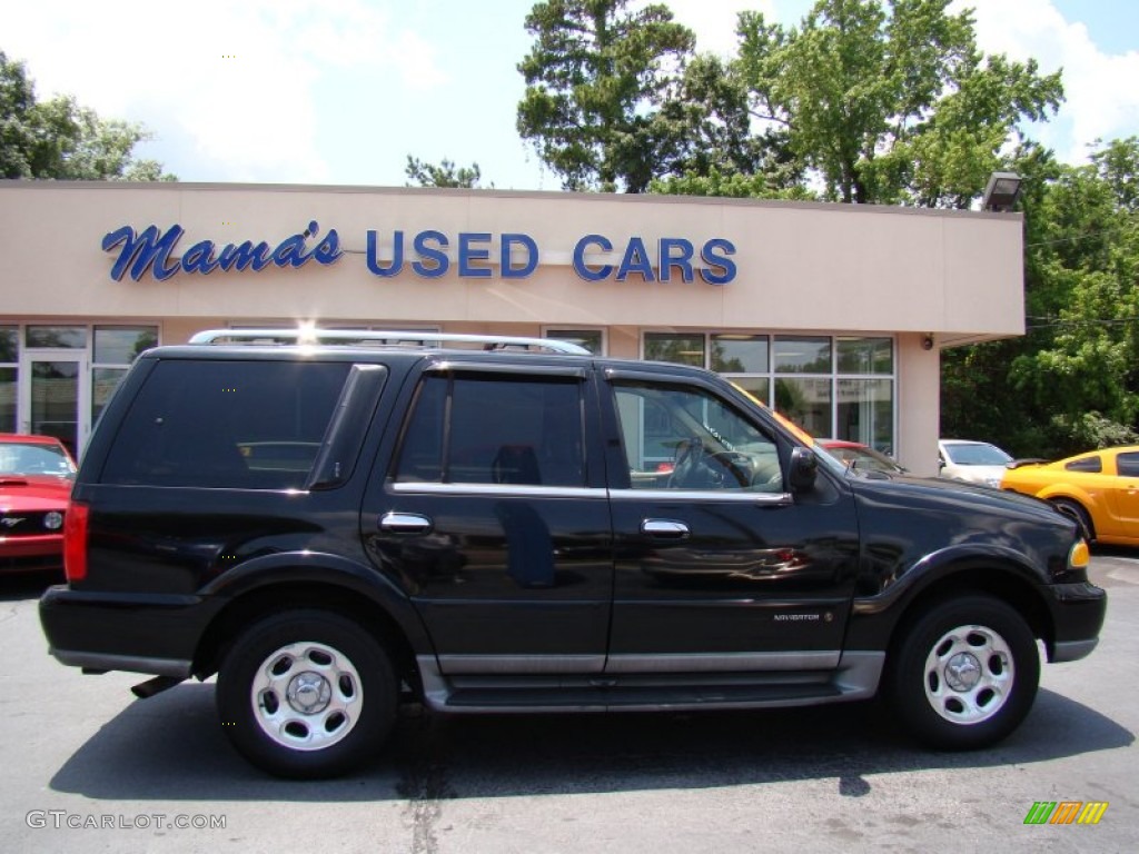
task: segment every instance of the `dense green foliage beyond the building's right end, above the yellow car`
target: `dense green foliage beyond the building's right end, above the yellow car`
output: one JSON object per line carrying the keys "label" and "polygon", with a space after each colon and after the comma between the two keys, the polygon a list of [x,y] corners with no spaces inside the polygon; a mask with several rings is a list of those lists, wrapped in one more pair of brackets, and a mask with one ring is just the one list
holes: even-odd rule
{"label": "dense green foliage beyond the building's right end, above the yellow car", "polygon": [[1139,440],[1139,139],[1084,166],[1022,151],[1023,338],[949,351],[943,430],[1056,458]]}

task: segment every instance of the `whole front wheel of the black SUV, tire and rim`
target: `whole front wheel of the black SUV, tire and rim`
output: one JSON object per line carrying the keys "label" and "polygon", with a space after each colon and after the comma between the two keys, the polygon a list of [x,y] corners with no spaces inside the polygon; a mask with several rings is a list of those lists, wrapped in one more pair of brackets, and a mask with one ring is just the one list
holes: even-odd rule
{"label": "whole front wheel of the black SUV, tire and rim", "polygon": [[1040,652],[1024,618],[992,597],[928,608],[892,646],[886,699],[919,740],[968,750],[1000,741],[1032,708]]}

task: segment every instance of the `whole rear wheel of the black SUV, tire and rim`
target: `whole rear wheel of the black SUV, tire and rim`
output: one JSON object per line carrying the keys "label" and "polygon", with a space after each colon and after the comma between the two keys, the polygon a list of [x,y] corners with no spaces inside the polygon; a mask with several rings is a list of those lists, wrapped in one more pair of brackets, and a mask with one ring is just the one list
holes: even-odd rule
{"label": "whole rear wheel of the black SUV, tire and rim", "polygon": [[371,758],[395,722],[391,659],[359,624],[322,610],[267,617],[218,673],[222,730],[277,777],[336,777]]}

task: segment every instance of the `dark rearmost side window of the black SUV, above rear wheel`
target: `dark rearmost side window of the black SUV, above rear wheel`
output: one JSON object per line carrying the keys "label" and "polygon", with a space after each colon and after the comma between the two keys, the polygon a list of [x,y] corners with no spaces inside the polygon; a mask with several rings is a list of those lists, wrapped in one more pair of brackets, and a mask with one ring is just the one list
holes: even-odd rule
{"label": "dark rearmost side window of the black SUV, above rear wheel", "polygon": [[301,488],[347,363],[164,361],[150,372],[103,483]]}

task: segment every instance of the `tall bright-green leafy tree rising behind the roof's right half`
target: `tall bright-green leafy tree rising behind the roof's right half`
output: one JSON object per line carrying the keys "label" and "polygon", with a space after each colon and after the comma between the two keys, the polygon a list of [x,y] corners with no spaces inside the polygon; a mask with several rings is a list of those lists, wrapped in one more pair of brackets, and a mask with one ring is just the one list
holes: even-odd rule
{"label": "tall bright-green leafy tree rising behind the roof's right half", "polygon": [[[976,199],[1021,124],[1044,120],[1063,88],[1059,73],[1042,76],[1035,61],[984,57],[970,13],[950,15],[949,3],[819,0],[798,28],[741,13],[730,74],[747,88],[767,150],[782,153],[764,164],[764,180],[746,176],[757,195],[786,195],[789,174],[833,202],[967,207]],[[784,175],[772,173],[777,164]],[[713,183],[739,189],[718,169]]]}

